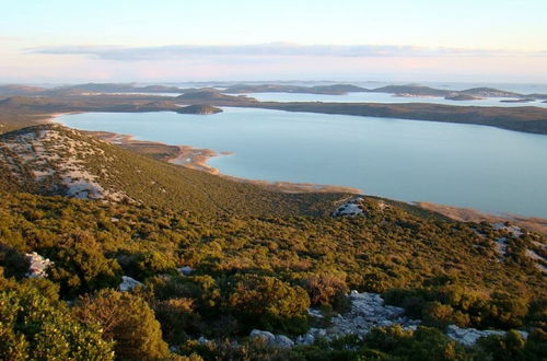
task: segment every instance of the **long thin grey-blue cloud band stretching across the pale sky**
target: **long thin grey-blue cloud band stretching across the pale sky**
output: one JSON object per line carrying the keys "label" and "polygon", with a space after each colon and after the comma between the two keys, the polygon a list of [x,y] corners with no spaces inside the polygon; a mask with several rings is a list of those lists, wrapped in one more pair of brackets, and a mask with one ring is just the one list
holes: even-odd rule
{"label": "long thin grey-blue cloud band stretching across the pale sky", "polygon": [[26,49],[31,54],[84,55],[104,60],[167,60],[191,57],[546,57],[544,51],[427,48],[394,45],[170,45],[155,47],[51,46]]}

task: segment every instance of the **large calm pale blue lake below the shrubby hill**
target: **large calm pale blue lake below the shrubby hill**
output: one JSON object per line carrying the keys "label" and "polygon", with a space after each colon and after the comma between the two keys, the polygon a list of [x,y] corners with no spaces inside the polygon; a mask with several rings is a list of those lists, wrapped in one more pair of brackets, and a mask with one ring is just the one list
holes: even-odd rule
{"label": "large calm pale blue lake below the shrubby hill", "polygon": [[491,127],[224,108],[217,115],[88,113],[59,121],[233,155],[209,164],[266,180],[547,218],[547,136]]}

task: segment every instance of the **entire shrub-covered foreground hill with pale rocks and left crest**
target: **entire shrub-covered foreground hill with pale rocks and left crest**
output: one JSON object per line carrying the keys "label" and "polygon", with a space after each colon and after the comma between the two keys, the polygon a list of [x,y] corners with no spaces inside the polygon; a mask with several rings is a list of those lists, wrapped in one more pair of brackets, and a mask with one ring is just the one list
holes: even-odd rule
{"label": "entire shrub-covered foreground hill with pale rocks and left crest", "polygon": [[58,125],[0,135],[7,360],[542,359],[546,249],[511,224],[269,191]]}

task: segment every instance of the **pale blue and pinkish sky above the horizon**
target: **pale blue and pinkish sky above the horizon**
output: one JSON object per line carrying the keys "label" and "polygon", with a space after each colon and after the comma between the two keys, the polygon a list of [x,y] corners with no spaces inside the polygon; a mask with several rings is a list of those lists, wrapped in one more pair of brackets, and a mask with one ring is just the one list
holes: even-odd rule
{"label": "pale blue and pinkish sky above the horizon", "polygon": [[0,0],[0,82],[547,83],[547,0]]}

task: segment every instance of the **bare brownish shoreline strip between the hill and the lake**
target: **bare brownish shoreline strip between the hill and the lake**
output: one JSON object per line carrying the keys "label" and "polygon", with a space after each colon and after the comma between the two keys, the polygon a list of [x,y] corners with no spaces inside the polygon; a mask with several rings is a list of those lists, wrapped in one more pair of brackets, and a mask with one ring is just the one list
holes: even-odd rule
{"label": "bare brownish shoreline strip between the hill and the lake", "polygon": [[[39,123],[60,124],[55,119],[67,114],[79,114],[83,112],[67,112],[49,114],[47,119]],[[80,130],[82,131],[82,130]],[[222,174],[220,170],[207,164],[209,159],[214,156],[232,155],[233,152],[218,152],[211,149],[194,148],[191,145],[170,145],[156,141],[137,140],[131,135],[120,135],[109,131],[82,131],[96,137],[110,144],[121,147],[124,149],[135,151],[143,155],[171,163],[177,166],[184,166],[190,170],[206,172],[216,176],[220,176],[230,180],[253,184],[259,187],[267,188],[272,191],[282,193],[348,193],[353,195],[365,194],[358,188],[335,186],[335,185],[318,185],[312,183],[291,183],[291,182],[268,182],[259,179],[248,179],[228,174]],[[511,222],[517,226],[528,229],[547,235],[547,219],[539,217],[526,217],[511,213],[494,214],[482,212],[472,208],[454,207],[429,201],[411,201],[407,202],[420,207],[426,210],[434,211],[443,214],[455,221],[463,222]]]}

